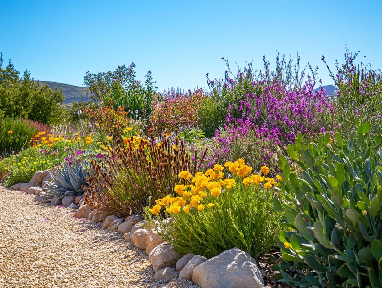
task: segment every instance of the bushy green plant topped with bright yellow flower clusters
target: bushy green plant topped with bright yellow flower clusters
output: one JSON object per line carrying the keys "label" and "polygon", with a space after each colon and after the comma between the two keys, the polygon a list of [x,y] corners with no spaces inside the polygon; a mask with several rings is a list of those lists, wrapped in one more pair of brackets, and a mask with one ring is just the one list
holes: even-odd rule
{"label": "bushy green plant topped with bright yellow flower clusters", "polygon": [[282,179],[267,174],[266,166],[256,174],[243,159],[193,177],[181,171],[175,193],[157,199],[149,212],[159,219],[173,218],[171,223],[160,221],[157,231],[180,253],[212,257],[238,247],[257,257],[274,246],[274,230],[280,228],[280,217],[267,203]]}

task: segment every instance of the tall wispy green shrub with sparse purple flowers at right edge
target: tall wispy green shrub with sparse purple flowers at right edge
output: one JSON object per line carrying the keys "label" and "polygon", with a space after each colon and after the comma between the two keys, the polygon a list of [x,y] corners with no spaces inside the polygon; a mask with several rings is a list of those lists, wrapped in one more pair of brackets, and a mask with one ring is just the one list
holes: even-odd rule
{"label": "tall wispy green shrub with sparse purple flowers at right edge", "polygon": [[382,133],[382,72],[372,70],[369,64],[361,62],[361,68],[354,64],[358,55],[346,49],[345,60],[336,62],[334,74],[322,56],[329,75],[338,87],[335,95],[335,117],[345,137],[357,128],[357,121],[370,120],[376,133]]}

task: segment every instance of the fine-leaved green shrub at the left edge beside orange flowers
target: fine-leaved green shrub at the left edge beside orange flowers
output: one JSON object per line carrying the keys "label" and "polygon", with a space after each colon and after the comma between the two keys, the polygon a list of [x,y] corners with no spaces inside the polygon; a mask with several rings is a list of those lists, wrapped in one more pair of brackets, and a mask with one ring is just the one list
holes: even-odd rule
{"label": "fine-leaved green shrub at the left edge beside orange flowers", "polygon": [[5,117],[0,119],[0,156],[18,153],[29,144],[33,133],[44,127],[36,122]]}

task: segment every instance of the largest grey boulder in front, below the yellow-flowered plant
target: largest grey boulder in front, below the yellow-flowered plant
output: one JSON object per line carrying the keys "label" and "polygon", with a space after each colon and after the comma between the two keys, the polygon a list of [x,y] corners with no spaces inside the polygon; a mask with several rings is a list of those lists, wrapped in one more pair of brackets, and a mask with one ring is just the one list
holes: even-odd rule
{"label": "largest grey boulder in front, below the yellow-flowered plant", "polygon": [[232,248],[194,268],[192,280],[201,288],[263,288],[256,261],[246,252]]}

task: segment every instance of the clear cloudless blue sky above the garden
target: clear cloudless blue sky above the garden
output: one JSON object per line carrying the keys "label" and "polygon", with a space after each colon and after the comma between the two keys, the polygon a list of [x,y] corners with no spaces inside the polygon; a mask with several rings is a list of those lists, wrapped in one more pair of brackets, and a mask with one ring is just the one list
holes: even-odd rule
{"label": "clear cloudless blue sky above the garden", "polygon": [[5,63],[37,80],[83,85],[87,71],[135,62],[151,70],[159,91],[206,86],[224,75],[228,59],[274,67],[276,50],[334,68],[345,44],[382,68],[381,1],[17,1],[0,0],[0,51]]}

